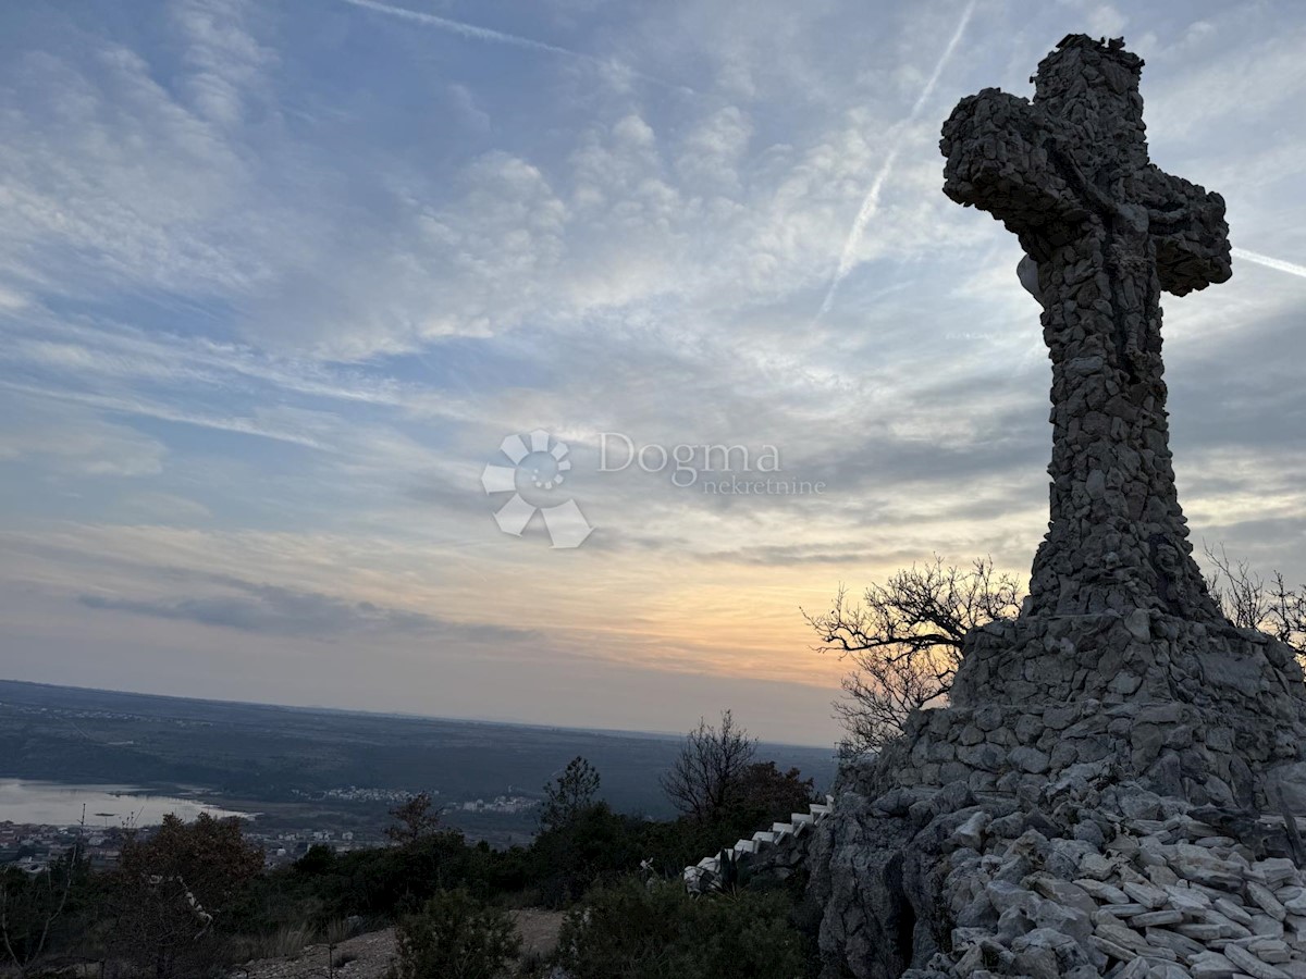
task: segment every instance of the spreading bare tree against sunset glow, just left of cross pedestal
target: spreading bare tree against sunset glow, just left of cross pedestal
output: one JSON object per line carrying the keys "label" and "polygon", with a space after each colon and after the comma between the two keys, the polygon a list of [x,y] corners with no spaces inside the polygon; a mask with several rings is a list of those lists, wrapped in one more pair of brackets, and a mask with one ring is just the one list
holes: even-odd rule
{"label": "spreading bare tree against sunset glow, just left of cross pedestal", "polygon": [[896,572],[871,585],[861,602],[842,586],[821,615],[803,611],[820,653],[853,662],[836,717],[848,731],[845,751],[879,751],[902,732],[913,710],[944,701],[961,664],[966,633],[1020,614],[1023,589],[995,572],[989,557],[969,568],[932,563]]}

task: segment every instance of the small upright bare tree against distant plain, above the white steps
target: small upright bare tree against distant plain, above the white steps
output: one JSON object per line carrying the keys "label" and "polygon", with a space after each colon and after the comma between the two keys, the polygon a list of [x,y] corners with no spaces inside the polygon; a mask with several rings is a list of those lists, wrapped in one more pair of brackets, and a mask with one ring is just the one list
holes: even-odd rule
{"label": "small upright bare tree against distant plain, above the white steps", "polygon": [[757,741],[735,726],[731,711],[721,713],[721,727],[699,718],[671,770],[662,775],[662,788],[683,815],[710,822],[741,801],[756,751]]}

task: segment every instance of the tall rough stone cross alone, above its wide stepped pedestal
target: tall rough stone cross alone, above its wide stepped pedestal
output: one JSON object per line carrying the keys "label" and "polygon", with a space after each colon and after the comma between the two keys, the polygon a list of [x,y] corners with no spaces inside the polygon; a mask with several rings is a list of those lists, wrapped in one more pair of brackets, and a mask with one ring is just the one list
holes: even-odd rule
{"label": "tall rough stone cross alone, above its wide stepped pedestal", "polygon": [[964,98],[944,123],[944,193],[1002,221],[1028,256],[1053,362],[1051,518],[1027,615],[1224,621],[1192,560],[1170,459],[1161,290],[1230,275],[1224,198],[1148,161],[1123,40],[1072,34],[1034,98]]}

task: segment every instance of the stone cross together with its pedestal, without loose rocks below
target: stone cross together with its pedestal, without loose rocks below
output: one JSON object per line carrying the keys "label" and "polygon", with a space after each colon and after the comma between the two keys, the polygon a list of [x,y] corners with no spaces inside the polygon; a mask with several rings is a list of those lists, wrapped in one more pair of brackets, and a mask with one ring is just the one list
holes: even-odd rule
{"label": "stone cross together with its pedestal, without loose rocks below", "polygon": [[[1049,754],[1036,770],[1041,758],[1019,753],[1029,775],[1111,756],[1162,791],[1250,803],[1262,773],[1302,761],[1306,688],[1293,650],[1222,616],[1175,492],[1160,294],[1228,279],[1229,239],[1218,194],[1148,162],[1141,68],[1121,40],[1071,35],[1038,65],[1033,102],[986,89],[943,125],[944,193],[1019,236],[1027,282],[1037,269],[1053,483],[1025,608],[968,637],[955,710],[931,718],[929,747],[912,748],[914,762],[939,764],[914,773],[927,783],[963,777],[961,766],[993,771],[982,745],[944,757],[938,744],[969,738],[946,728],[986,705],[1019,707],[981,726],[986,743]],[[1166,709],[1081,719],[1064,738],[1037,722],[1043,706],[1093,704]]]}

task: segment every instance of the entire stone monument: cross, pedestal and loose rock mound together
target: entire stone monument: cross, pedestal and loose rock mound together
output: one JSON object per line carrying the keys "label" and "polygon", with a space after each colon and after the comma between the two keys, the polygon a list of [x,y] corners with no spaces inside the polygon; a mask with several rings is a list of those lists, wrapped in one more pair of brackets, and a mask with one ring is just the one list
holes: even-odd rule
{"label": "entire stone monument: cross, pedestal and loose rock mound together", "polygon": [[944,124],[944,192],[1019,236],[1043,307],[1051,513],[949,706],[841,773],[810,845],[829,979],[1306,979],[1306,687],[1203,582],[1165,412],[1160,294],[1229,278],[1224,201],[1148,162],[1141,67],[1071,35],[1033,102]]}

